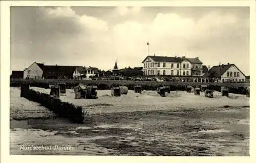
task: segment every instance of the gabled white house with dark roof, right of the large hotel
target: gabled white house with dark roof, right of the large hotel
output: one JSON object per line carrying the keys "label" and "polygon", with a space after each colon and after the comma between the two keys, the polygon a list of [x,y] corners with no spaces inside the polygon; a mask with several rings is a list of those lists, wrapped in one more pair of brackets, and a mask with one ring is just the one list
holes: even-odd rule
{"label": "gabled white house with dark roof, right of the large hotel", "polygon": [[244,73],[234,64],[214,66],[209,69],[208,78],[219,80],[221,82],[241,82],[245,81]]}

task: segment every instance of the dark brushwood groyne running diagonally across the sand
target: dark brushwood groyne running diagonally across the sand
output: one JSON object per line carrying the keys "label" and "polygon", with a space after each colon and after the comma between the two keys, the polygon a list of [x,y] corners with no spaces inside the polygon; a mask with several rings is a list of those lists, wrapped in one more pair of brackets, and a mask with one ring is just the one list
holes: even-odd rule
{"label": "dark brushwood groyne running diagonally across the sand", "polygon": [[59,117],[68,118],[73,123],[81,124],[84,120],[87,120],[88,113],[83,111],[82,107],[61,102],[60,99],[54,98],[49,94],[29,90],[25,94],[25,98],[41,104]]}

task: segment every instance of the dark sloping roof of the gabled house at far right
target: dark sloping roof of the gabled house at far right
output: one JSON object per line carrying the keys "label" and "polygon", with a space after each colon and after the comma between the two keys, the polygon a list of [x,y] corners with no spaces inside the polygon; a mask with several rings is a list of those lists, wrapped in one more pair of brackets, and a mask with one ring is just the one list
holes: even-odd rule
{"label": "dark sloping roof of the gabled house at far right", "polygon": [[[214,66],[209,69],[208,77],[220,77],[220,75],[223,75],[231,66],[235,66],[239,70],[239,68],[234,64]],[[241,71],[241,70],[239,70],[239,71]],[[242,71],[241,71],[241,73],[244,75],[244,73]]]}

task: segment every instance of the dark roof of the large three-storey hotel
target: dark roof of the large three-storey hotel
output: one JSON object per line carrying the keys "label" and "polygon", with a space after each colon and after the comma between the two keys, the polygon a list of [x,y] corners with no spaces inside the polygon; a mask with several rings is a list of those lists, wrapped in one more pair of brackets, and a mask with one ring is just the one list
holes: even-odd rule
{"label": "dark roof of the large three-storey hotel", "polygon": [[[175,62],[175,63],[181,63],[182,60],[187,59],[190,63],[202,64],[202,62],[199,60],[198,57],[196,57],[196,58],[186,58],[186,57],[155,56],[155,55],[154,56],[148,55],[147,57],[151,57],[155,62]],[[142,63],[146,60],[146,58],[142,61]]]}

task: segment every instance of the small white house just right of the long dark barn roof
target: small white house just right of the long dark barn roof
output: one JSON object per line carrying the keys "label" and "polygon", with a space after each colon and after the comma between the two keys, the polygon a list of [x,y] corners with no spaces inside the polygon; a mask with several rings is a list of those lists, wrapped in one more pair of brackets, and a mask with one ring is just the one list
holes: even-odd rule
{"label": "small white house just right of the long dark barn roof", "polygon": [[88,79],[91,76],[98,76],[99,70],[96,67],[76,67],[73,78],[76,80]]}

